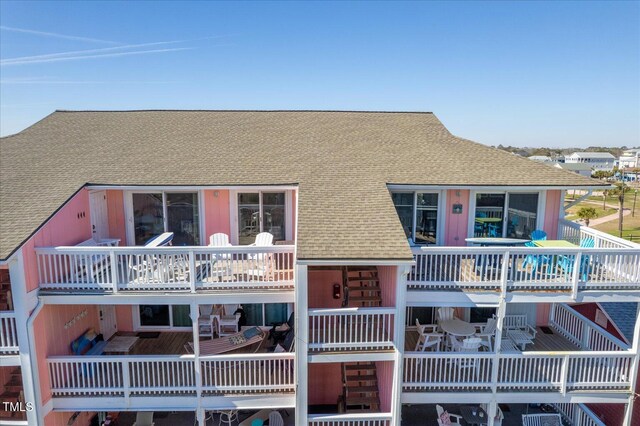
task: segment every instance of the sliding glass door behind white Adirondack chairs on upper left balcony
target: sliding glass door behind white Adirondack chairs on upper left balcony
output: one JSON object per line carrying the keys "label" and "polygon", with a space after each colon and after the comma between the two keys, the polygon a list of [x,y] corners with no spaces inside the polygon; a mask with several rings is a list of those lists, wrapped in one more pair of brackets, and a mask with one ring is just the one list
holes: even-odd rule
{"label": "sliding glass door behind white Adirondack chairs on upper left balcony", "polygon": [[284,192],[243,192],[238,194],[238,243],[252,244],[260,232],[269,232],[274,241],[285,239]]}

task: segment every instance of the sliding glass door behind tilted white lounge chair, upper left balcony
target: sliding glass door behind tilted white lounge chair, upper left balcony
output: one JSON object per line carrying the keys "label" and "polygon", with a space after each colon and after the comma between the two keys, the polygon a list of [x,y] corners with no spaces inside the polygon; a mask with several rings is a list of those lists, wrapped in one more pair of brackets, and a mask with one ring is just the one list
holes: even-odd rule
{"label": "sliding glass door behind tilted white lounge chair, upper left balcony", "polygon": [[163,232],[173,232],[174,246],[200,244],[197,192],[132,193],[133,242],[144,245]]}

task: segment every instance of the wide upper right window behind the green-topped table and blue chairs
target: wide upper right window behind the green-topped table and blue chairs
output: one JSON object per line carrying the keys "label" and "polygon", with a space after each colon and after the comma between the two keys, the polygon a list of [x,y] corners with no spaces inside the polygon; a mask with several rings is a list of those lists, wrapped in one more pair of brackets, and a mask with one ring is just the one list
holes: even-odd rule
{"label": "wide upper right window behind the green-topped table and blue chairs", "polygon": [[474,237],[528,238],[537,222],[538,193],[476,194]]}

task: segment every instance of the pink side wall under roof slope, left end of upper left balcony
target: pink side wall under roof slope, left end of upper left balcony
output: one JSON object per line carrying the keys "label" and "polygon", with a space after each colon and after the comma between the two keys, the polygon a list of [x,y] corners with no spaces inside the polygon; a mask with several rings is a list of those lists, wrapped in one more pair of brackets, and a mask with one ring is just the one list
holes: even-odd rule
{"label": "pink side wall under roof slope, left end of upper left balcony", "polygon": [[89,238],[89,194],[86,189],[81,189],[22,247],[27,291],[38,287],[35,247],[75,245]]}

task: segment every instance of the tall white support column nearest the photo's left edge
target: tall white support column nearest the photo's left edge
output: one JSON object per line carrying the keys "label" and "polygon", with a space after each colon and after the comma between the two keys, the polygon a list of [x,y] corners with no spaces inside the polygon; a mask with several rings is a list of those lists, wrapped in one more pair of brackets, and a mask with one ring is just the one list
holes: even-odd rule
{"label": "tall white support column nearest the photo's left edge", "polygon": [[[38,376],[38,362],[35,348],[29,343],[27,320],[31,312],[28,306],[27,282],[25,279],[24,259],[20,249],[9,261],[9,277],[11,280],[11,296],[13,310],[16,314],[16,332],[18,333],[18,347],[20,349],[20,371],[22,373],[22,387],[25,402],[34,405],[33,411],[27,411],[27,423],[30,425],[44,424],[43,401],[40,400],[40,381]],[[39,310],[35,313],[37,314]],[[35,341],[35,339],[34,339]],[[46,356],[46,354],[41,354]]]}

